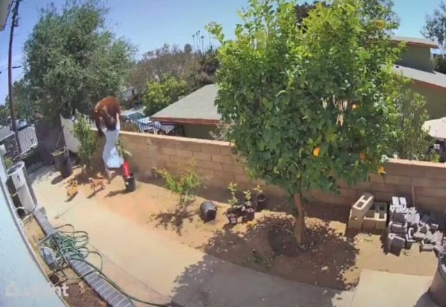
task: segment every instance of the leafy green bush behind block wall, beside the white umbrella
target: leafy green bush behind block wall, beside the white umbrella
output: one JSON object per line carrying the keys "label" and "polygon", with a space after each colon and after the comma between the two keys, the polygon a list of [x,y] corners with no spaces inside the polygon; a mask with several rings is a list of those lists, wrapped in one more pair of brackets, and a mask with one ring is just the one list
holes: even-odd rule
{"label": "leafy green bush behind block wall, beside the white umbrella", "polygon": [[389,112],[392,114],[390,155],[396,154],[399,159],[433,162],[435,157],[428,150],[435,139],[423,128],[424,122],[429,120],[424,97],[410,90],[398,90],[393,107],[395,110]]}

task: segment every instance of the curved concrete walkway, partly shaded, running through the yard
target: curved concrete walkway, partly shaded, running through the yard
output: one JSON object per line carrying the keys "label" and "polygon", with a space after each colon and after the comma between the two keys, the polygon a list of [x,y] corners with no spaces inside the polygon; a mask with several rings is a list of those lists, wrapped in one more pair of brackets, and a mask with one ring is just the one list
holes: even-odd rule
{"label": "curved concrete walkway, partly shaded, running through the yard", "polygon": [[379,285],[380,276],[361,281],[361,291],[353,299],[353,292],[295,283],[234,265],[103,210],[94,198],[79,193],[65,203],[65,189],[51,183],[56,175],[45,175],[33,183],[49,222],[55,227],[70,223],[89,233],[92,248],[105,258],[105,274],[142,299],[172,301],[174,306],[184,307],[424,306],[415,305],[417,299],[414,304],[392,305],[380,304],[380,296],[367,297],[367,290],[373,290],[367,284]]}

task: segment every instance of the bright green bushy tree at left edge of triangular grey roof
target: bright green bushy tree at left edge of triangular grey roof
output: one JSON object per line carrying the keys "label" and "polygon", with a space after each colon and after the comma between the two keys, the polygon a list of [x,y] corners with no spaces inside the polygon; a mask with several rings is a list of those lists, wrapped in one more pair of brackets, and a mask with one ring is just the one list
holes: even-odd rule
{"label": "bright green bushy tree at left edge of triangular grey roof", "polygon": [[161,82],[147,82],[146,92],[142,98],[146,106],[145,113],[151,116],[176,102],[185,93],[187,93],[186,81],[171,77],[170,74],[164,74]]}

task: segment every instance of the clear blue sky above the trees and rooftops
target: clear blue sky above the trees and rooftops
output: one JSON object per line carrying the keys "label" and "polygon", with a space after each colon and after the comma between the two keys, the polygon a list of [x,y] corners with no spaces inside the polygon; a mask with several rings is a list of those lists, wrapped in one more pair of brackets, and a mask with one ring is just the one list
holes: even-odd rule
{"label": "clear blue sky above the trees and rooftops", "polygon": [[[308,0],[307,0],[308,1]],[[15,29],[13,65],[20,65],[22,46],[37,21],[38,8],[50,0],[23,0],[20,3],[20,26]],[[54,0],[62,5],[64,0]],[[302,1],[303,2],[303,1]],[[440,0],[394,0],[394,10],[401,18],[396,35],[422,37],[420,30],[424,16],[437,8]],[[108,0],[111,8],[110,26],[120,36],[125,36],[139,47],[139,55],[168,44],[192,44],[192,34],[198,30],[206,36],[203,26],[209,22],[222,24],[226,36],[232,36],[240,21],[237,10],[246,6],[246,0]],[[8,93],[8,39],[9,25],[0,32],[0,104]],[[21,69],[13,70],[13,78],[22,75]]]}

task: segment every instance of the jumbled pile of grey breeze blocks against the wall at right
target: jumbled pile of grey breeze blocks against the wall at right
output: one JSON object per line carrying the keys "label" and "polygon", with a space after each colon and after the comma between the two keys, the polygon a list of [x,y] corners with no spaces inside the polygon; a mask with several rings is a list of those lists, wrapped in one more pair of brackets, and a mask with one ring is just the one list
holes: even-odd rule
{"label": "jumbled pile of grey breeze blocks against the wall at right", "polygon": [[443,234],[431,214],[423,214],[415,207],[408,207],[406,198],[402,197],[392,197],[389,214],[388,251],[399,254],[403,247],[411,249],[414,242],[420,242],[420,251],[438,252],[442,249]]}

